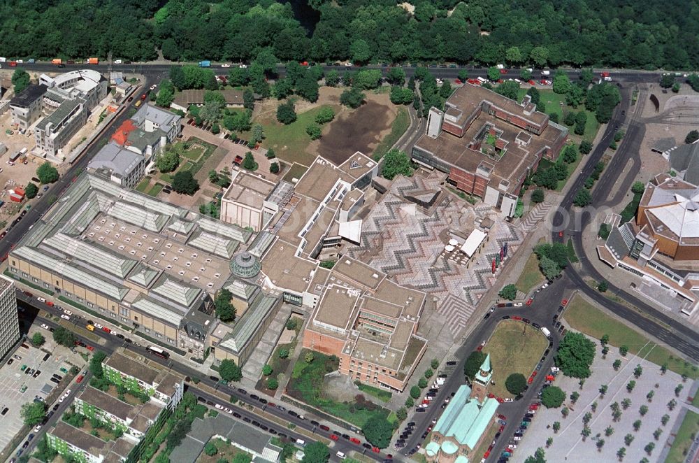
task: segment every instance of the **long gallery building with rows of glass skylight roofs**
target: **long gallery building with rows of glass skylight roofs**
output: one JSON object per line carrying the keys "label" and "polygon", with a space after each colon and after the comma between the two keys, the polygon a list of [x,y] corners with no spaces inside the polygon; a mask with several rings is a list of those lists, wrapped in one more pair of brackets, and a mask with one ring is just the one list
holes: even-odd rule
{"label": "long gallery building with rows of glass skylight roofs", "polygon": [[16,278],[203,357],[212,294],[250,231],[86,174],[8,257]]}

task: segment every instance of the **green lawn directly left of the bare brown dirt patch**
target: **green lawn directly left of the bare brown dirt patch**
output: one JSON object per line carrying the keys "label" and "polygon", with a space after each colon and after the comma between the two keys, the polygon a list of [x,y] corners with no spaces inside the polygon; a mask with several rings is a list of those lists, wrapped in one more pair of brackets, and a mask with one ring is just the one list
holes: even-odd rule
{"label": "green lawn directly left of the bare brown dirt patch", "polygon": [[310,165],[315,157],[305,151],[311,142],[305,128],[308,127],[308,124],[315,122],[315,116],[322,108],[333,108],[333,106],[323,105],[312,108],[305,113],[298,113],[296,121],[289,125],[284,125],[277,120],[255,120],[254,122],[260,122],[264,127],[265,138],[262,141],[262,146],[274,148],[277,157],[285,161],[298,161],[301,164]]}

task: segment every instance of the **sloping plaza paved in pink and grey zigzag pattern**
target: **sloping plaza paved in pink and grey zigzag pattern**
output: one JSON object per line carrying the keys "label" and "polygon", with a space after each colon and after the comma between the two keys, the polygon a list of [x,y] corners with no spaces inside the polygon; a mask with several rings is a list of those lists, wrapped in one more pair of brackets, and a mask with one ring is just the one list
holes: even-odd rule
{"label": "sloping plaza paved in pink and grey zigzag pattern", "polygon": [[[473,207],[448,196],[434,206],[431,215],[426,215],[402,199],[406,194],[439,189],[438,179],[396,179],[364,220],[361,244],[345,252],[384,271],[396,282],[435,297],[437,311],[445,316],[456,338],[478,301],[495,283],[499,271],[493,276],[491,265],[500,247],[508,243],[508,254],[512,255],[524,234],[519,227],[504,222],[490,206]],[[493,219],[495,225],[468,267],[449,260],[444,253],[449,229],[473,229],[475,222],[486,217]]]}

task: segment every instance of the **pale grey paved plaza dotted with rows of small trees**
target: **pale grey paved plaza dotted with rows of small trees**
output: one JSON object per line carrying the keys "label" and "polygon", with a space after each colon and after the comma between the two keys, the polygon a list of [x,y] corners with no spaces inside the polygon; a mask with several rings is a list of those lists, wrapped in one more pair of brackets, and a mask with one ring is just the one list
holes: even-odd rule
{"label": "pale grey paved plaza dotted with rows of small trees", "polygon": [[[593,341],[598,347],[597,355],[591,367],[592,376],[586,379],[584,387],[580,389],[577,378],[568,378],[562,374],[559,374],[554,383],[566,393],[563,406],[568,406],[570,409],[568,418],[563,418],[561,414],[563,406],[552,409],[541,407],[528,431],[524,434],[524,438],[519,442],[518,448],[514,451],[512,461],[524,462],[526,457],[533,455],[535,450],[541,447],[545,449],[548,461],[614,462],[619,461],[617,458],[619,448],[625,447],[625,462],[638,462],[643,457],[646,457],[649,462],[656,462],[666,444],[669,445],[668,440],[672,441],[670,439],[671,429],[686,404],[691,382],[685,383],[684,390],[679,394],[679,397],[676,397],[675,387],[682,383],[682,377],[679,374],[668,370],[663,375],[660,366],[630,354],[628,354],[628,358],[621,359],[619,371],[614,371],[612,363],[621,358],[617,348],[611,348],[607,358],[603,359],[599,341],[594,339]],[[637,364],[643,368],[640,378],[633,376],[633,370]],[[626,385],[630,380],[636,382],[633,392],[626,390]],[[605,397],[602,398],[599,394],[599,388],[604,384],[608,385],[609,389]],[[649,402],[646,396],[651,390],[655,394],[652,401]],[[575,404],[571,404],[570,393],[574,391],[577,391],[580,397]],[[620,408],[621,418],[618,422],[614,422],[610,406],[615,402],[621,406],[622,401],[627,398],[631,401],[630,406],[626,410],[623,407]],[[671,399],[677,401],[677,406],[672,411],[668,408],[668,402]],[[595,412],[592,412],[591,409],[593,402],[597,402]],[[644,416],[640,415],[640,406],[642,405],[648,407],[648,412]],[[592,419],[589,422],[591,434],[583,441],[580,433],[583,429],[583,416],[588,412],[592,413]],[[666,425],[663,425],[661,418],[665,414],[668,414],[670,419]],[[509,418],[518,419],[520,417]],[[633,429],[633,422],[636,420],[641,420],[642,423],[637,432]],[[554,434],[551,426],[555,421],[561,423],[561,430]],[[610,426],[614,429],[614,433],[611,436],[605,436],[605,429]],[[662,429],[662,434],[656,440],[653,433],[658,428]],[[634,437],[629,446],[624,443],[626,434],[631,434]],[[546,448],[546,440],[549,437],[552,437],[554,442],[552,446]],[[601,451],[597,448],[599,439],[605,441]],[[650,442],[655,444],[655,448],[651,455],[648,455],[644,451],[644,447]]]}

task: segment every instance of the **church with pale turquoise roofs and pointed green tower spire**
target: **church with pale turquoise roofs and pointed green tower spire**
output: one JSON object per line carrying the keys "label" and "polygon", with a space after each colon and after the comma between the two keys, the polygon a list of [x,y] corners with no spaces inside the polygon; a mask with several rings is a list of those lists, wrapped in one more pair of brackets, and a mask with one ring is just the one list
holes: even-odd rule
{"label": "church with pale turquoise roofs and pointed green tower spire", "polygon": [[463,385],[449,401],[432,429],[432,441],[425,447],[430,463],[468,463],[480,459],[473,455],[491,426],[496,426],[500,403],[488,397],[493,377],[490,355],[480,366],[471,385]]}

